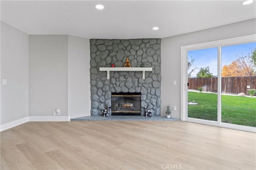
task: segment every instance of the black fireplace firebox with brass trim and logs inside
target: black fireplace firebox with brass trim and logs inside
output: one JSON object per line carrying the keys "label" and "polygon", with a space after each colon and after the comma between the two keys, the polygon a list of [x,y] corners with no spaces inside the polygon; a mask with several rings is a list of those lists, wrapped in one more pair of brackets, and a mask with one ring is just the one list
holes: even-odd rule
{"label": "black fireplace firebox with brass trim and logs inside", "polygon": [[112,93],[112,115],[138,115],[141,114],[140,93]]}

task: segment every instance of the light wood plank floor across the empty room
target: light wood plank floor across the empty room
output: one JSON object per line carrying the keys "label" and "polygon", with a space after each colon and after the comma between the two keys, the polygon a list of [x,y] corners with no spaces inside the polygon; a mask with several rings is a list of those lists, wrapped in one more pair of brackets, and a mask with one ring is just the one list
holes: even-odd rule
{"label": "light wood plank floor across the empty room", "polygon": [[1,132],[1,169],[256,169],[256,134],[182,121],[28,122]]}

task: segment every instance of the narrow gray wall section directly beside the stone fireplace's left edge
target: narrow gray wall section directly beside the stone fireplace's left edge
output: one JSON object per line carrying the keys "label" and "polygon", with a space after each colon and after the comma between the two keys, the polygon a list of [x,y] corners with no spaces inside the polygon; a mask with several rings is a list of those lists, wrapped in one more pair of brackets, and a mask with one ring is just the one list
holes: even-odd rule
{"label": "narrow gray wall section directly beside the stone fireplace's left edge", "polygon": [[68,115],[91,115],[90,40],[68,36]]}

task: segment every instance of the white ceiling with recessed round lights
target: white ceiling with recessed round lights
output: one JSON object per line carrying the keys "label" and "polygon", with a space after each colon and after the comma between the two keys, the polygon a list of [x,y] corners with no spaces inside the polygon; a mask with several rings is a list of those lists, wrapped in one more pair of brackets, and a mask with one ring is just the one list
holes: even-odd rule
{"label": "white ceiling with recessed round lights", "polygon": [[[1,20],[27,34],[165,38],[256,18],[240,0],[1,1]],[[94,8],[103,4],[103,10]],[[152,27],[158,26],[154,31]]]}

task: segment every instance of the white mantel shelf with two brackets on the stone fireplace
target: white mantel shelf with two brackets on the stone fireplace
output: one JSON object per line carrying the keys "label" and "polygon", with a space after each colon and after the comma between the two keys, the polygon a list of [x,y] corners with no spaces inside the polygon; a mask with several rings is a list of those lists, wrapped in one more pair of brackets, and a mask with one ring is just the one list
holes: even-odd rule
{"label": "white mantel shelf with two brackets on the stone fireplace", "polygon": [[145,71],[152,71],[152,67],[100,67],[100,71],[107,71],[107,79],[110,71],[142,71],[142,79],[145,79]]}

